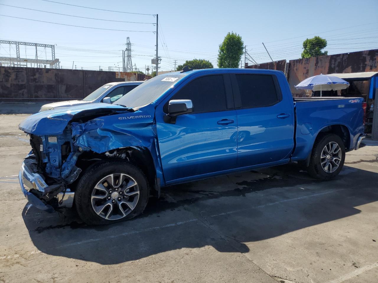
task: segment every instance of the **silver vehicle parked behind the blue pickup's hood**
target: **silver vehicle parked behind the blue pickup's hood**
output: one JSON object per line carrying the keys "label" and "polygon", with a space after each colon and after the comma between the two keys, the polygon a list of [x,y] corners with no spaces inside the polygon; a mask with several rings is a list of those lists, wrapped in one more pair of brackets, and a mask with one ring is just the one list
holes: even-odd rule
{"label": "silver vehicle parked behind the blue pickup's hood", "polygon": [[45,104],[42,105],[39,112],[55,109],[58,107],[70,107],[74,105],[84,105],[89,103],[113,103],[127,94],[127,92],[136,88],[141,83],[143,83],[143,81],[107,83],[93,91],[90,95],[86,96],[82,100],[69,100]]}

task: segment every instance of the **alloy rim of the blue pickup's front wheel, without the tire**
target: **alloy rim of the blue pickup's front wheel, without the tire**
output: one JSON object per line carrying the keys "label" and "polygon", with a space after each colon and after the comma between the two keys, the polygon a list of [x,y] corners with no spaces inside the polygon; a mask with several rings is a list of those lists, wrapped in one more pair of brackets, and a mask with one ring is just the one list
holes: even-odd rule
{"label": "alloy rim of the blue pickup's front wheel, without the tire", "polygon": [[93,211],[106,220],[119,220],[132,212],[139,200],[135,179],[123,173],[109,174],[93,188]]}

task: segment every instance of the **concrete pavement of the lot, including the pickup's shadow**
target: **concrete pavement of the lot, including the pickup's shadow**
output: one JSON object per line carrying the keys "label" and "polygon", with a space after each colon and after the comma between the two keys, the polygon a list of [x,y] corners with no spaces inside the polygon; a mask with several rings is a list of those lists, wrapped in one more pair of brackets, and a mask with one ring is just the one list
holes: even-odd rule
{"label": "concrete pavement of the lot, including the pickup's shadow", "polygon": [[88,227],[28,205],[18,184],[27,115],[0,115],[0,281],[378,281],[378,143],[332,181],[297,165],[163,189],[141,217]]}

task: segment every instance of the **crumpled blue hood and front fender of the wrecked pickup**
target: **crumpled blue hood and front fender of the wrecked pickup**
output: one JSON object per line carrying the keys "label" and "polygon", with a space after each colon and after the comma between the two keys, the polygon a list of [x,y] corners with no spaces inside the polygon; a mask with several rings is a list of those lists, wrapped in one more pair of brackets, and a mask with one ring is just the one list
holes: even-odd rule
{"label": "crumpled blue hood and front fender of the wrecked pickup", "polygon": [[[45,140],[48,136],[57,136],[58,141],[63,140],[67,135],[67,129],[70,129],[75,148],[99,154],[130,146],[146,148],[152,155],[156,177],[164,180],[158,159],[154,114],[155,107],[153,104],[134,112],[133,109],[119,105],[94,103],[37,113],[23,120],[19,128],[29,134],[41,136]],[[95,115],[98,118],[93,118],[84,123],[71,122],[73,119],[77,121],[88,115]],[[56,150],[59,151],[58,148],[52,151],[50,149],[50,154],[53,154]],[[79,151],[71,152],[72,156],[70,155],[62,165],[61,177],[67,176],[74,170],[78,153]],[[61,153],[57,152],[57,154],[60,155]],[[47,162],[51,163],[51,161]]]}

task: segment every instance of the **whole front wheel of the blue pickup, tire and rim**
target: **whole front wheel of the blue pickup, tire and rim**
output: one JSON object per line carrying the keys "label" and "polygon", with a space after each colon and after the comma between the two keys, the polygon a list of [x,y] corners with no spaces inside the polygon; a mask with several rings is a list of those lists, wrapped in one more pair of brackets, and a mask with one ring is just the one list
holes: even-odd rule
{"label": "whole front wheel of the blue pickup, tire and rim", "polygon": [[85,223],[104,225],[141,214],[148,198],[149,185],[141,169],[127,161],[105,161],[82,175],[75,205]]}

